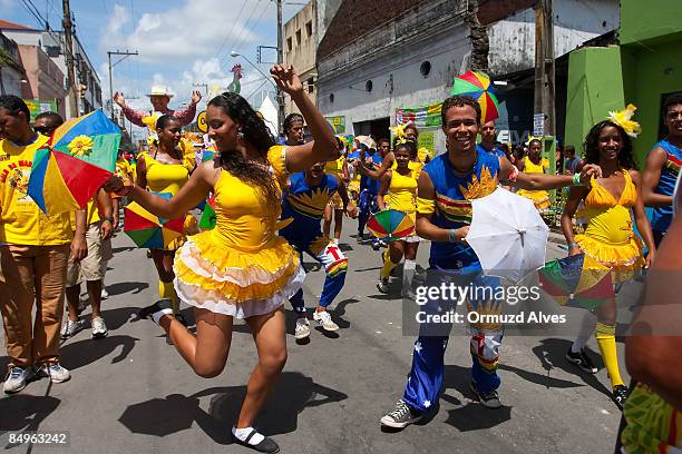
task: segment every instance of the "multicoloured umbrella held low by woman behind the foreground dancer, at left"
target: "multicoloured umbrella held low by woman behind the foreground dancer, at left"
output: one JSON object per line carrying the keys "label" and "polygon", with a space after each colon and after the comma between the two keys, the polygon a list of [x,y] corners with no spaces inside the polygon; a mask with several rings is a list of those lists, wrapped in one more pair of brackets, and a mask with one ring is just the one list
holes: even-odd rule
{"label": "multicoloured umbrella held low by woman behind the foreground dancer, at left", "polygon": [[[153,193],[155,194],[155,193]],[[157,194],[166,199],[170,194]],[[178,219],[162,219],[154,216],[137,203],[127,205],[124,209],[124,231],[135,241],[137,247],[164,249],[174,239],[183,235],[184,216]]]}

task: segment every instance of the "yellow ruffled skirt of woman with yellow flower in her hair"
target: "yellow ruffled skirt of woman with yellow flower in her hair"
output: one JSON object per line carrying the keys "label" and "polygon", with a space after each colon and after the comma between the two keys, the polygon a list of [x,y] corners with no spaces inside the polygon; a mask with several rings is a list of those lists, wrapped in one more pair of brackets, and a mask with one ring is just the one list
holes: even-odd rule
{"label": "yellow ruffled skirt of woman with yellow flower in her hair", "polygon": [[611,269],[614,284],[632,279],[644,266],[642,241],[636,235],[621,244],[604,243],[587,235],[576,235],[574,240],[585,253],[583,266],[587,269]]}

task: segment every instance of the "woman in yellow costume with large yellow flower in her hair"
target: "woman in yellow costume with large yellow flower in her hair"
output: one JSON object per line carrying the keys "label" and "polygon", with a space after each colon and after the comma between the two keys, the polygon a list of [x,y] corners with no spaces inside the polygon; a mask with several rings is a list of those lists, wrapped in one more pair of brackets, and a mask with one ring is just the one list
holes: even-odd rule
{"label": "woman in yellow costume with large yellow flower in her hair", "polygon": [[[562,229],[568,243],[568,254],[585,254],[584,269],[594,269],[594,273],[600,269],[611,270],[616,289],[642,266],[649,267],[656,253],[651,226],[644,213],[640,172],[635,169],[629,136],[630,134],[636,137],[639,125],[630,120],[634,107],[629,108],[631,110],[626,120],[622,118],[622,114],[612,114],[607,120],[593,126],[587,134],[583,145],[585,162],[598,164],[602,178],[592,179],[588,188],[572,188],[562,215]],[[587,227],[584,234],[574,236],[573,216],[581,200],[585,200]],[[642,241],[633,230],[631,210],[649,249],[646,259],[643,258]],[[596,309],[596,340],[611,379],[613,399],[623,408],[627,388],[621,378],[616,356],[615,294]],[[583,347],[593,328],[594,325],[583,323],[581,335],[566,353],[566,358],[583,369],[585,363],[591,363]]]}

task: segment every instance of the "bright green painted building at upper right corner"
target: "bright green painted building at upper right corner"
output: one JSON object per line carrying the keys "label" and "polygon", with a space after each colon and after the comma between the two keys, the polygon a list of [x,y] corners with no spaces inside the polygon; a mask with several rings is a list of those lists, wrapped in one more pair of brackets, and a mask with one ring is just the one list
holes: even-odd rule
{"label": "bright green painted building at upper right corner", "polygon": [[637,107],[642,134],[634,140],[642,167],[659,140],[662,102],[682,91],[682,1],[621,0],[618,45],[569,55],[565,142],[581,149],[592,125],[610,110]]}

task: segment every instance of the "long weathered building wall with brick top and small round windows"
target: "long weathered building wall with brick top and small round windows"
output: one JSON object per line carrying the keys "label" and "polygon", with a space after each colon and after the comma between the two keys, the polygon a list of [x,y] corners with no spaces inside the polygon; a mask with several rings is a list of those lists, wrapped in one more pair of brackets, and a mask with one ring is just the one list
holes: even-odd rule
{"label": "long weathered building wall with brick top and small round windows", "polygon": [[[345,130],[353,134],[354,122],[389,117],[394,124],[397,108],[441,101],[470,51],[468,34],[451,1],[433,1],[374,29],[318,62],[320,109],[344,116]],[[426,77],[420,72],[425,61],[431,66]],[[440,131],[436,149],[445,151]]]}

